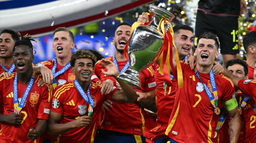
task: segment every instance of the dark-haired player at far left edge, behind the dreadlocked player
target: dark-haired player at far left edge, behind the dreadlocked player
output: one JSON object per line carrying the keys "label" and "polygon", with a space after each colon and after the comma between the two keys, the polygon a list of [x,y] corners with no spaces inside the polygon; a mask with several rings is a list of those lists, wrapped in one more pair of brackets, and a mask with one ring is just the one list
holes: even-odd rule
{"label": "dark-haired player at far left edge, behind the dreadlocked player", "polygon": [[9,72],[10,74],[16,72],[13,63],[13,47],[15,42],[19,40],[17,32],[11,29],[4,29],[0,35],[0,74]]}

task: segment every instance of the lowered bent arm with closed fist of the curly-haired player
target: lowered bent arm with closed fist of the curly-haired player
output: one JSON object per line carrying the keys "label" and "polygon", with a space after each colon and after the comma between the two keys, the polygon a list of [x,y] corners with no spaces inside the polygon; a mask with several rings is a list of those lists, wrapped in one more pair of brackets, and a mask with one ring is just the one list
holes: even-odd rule
{"label": "lowered bent arm with closed fist of the curly-haired player", "polygon": [[74,128],[87,127],[92,122],[92,118],[90,116],[81,116],[74,121],[62,124],[60,123],[61,117],[62,113],[50,112],[47,129],[47,133],[49,135],[61,135]]}

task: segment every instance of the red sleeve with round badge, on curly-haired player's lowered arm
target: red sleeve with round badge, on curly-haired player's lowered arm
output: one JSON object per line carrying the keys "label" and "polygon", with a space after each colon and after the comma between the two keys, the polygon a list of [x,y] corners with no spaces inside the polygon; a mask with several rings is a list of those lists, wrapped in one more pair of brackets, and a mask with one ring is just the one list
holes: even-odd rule
{"label": "red sleeve with round badge, on curly-haired player's lowered arm", "polygon": [[[58,92],[58,89],[62,88],[62,86],[57,86],[52,94],[52,101],[51,101],[51,111],[55,113],[63,113],[63,102],[64,102],[64,95],[67,93],[67,91],[60,93]],[[57,91],[57,92],[56,92]],[[60,96],[62,95],[62,96]]]}

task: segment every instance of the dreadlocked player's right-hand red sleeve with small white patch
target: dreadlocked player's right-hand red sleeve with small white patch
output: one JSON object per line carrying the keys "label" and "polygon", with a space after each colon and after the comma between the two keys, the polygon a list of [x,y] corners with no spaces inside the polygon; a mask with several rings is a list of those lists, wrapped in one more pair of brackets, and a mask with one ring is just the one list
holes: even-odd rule
{"label": "dreadlocked player's right-hand red sleeve with small white patch", "polygon": [[47,119],[50,114],[50,107],[51,107],[51,97],[52,97],[52,85],[44,86],[42,91],[42,100],[40,102],[38,108],[38,119]]}

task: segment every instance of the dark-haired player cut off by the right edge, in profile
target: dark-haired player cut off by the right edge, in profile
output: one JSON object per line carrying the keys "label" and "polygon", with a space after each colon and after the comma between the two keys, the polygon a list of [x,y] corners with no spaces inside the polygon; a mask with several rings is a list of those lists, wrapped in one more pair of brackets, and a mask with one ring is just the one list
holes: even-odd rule
{"label": "dark-haired player cut off by the right edge, in profile", "polygon": [[248,64],[249,79],[253,79],[254,63],[256,60],[256,31],[246,33],[243,38],[243,47],[247,54],[246,63]]}

